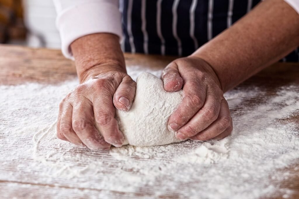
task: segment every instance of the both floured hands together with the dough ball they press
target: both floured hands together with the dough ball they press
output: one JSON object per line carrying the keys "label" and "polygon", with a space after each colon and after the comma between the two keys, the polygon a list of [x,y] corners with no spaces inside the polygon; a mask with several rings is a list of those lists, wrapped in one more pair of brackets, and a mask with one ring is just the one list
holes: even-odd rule
{"label": "both floured hands together with the dough ball they press", "polygon": [[[228,104],[212,69],[200,64],[180,58],[166,67],[164,83],[150,73],[137,86],[125,72],[89,79],[60,103],[57,137],[92,150],[224,138],[232,130]],[[171,92],[169,84],[180,87]]]}

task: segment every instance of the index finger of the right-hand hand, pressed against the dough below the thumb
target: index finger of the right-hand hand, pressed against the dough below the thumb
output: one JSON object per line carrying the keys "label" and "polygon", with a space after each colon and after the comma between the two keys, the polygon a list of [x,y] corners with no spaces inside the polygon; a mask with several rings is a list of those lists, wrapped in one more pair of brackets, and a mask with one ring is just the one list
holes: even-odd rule
{"label": "index finger of the right-hand hand, pressed against the dough below the thumb", "polygon": [[200,84],[196,77],[188,79],[183,88],[184,97],[178,108],[170,115],[168,129],[177,131],[186,124],[203,106],[206,96],[206,85]]}

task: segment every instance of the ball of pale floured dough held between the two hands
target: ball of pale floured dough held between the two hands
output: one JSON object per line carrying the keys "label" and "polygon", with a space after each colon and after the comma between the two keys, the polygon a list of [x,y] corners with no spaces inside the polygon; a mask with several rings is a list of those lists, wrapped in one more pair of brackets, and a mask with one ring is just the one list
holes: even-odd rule
{"label": "ball of pale floured dough held between the two hands", "polygon": [[175,133],[167,129],[167,121],[182,98],[182,90],[165,91],[163,81],[155,75],[139,75],[131,109],[128,112],[116,110],[125,144],[153,146],[179,142]]}

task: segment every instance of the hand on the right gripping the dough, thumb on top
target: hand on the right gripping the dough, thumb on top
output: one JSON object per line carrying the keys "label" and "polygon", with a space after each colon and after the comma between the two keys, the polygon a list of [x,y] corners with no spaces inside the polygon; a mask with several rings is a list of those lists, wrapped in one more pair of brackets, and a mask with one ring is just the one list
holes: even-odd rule
{"label": "hand on the right gripping the dough, thumb on top", "polygon": [[164,89],[183,88],[183,99],[168,120],[176,138],[206,141],[231,134],[233,123],[219,79],[204,60],[189,56],[171,62],[162,72]]}

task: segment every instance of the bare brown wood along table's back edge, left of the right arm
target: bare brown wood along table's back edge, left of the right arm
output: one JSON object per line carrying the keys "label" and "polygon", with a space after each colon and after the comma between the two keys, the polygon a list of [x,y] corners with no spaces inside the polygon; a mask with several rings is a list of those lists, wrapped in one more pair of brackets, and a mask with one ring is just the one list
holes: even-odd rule
{"label": "bare brown wood along table's back edge, left of the right arm", "polygon": [[[0,45],[0,84],[23,82],[57,84],[76,77],[73,61],[65,59],[59,50],[25,49]],[[175,57],[125,53],[127,66],[163,68]]]}

